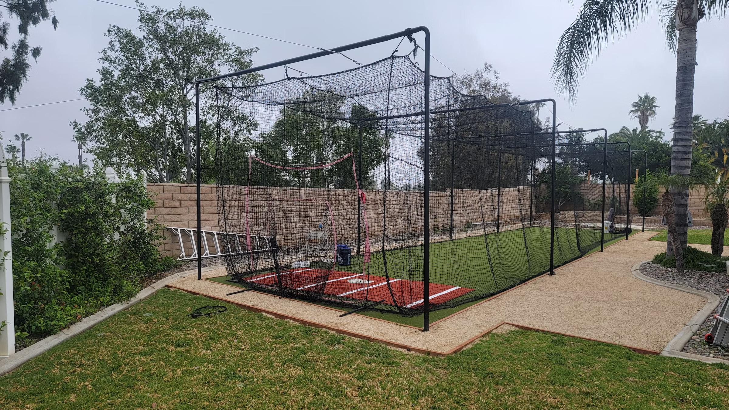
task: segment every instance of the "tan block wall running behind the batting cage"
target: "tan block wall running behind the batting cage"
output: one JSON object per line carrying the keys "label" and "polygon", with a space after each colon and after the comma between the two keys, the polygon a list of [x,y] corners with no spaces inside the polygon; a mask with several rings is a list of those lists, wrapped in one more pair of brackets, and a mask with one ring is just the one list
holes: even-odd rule
{"label": "tan block wall running behind the batting cage", "polygon": [[[631,186],[634,189],[634,186]],[[204,229],[219,230],[217,194],[214,185],[203,185],[201,188],[202,200],[200,206],[202,209],[202,224]],[[249,207],[252,212],[251,224],[252,231],[259,229],[260,226],[254,226],[256,221],[263,223],[265,216],[255,215],[255,212],[265,210],[268,201],[268,187],[254,187],[251,191],[251,202]],[[583,194],[593,199],[601,199],[601,184],[583,184],[580,187]],[[286,192],[291,190],[292,192]],[[703,210],[703,193],[704,187],[699,186],[689,197],[689,208],[695,219],[707,219],[709,216]],[[296,195],[300,198],[317,199],[323,197],[326,189],[312,188],[278,188],[276,195],[281,197],[290,197]],[[164,226],[179,226],[182,228],[194,228],[197,226],[197,205],[195,200],[194,184],[147,184],[147,192],[149,197],[155,200],[155,206],[148,211],[149,218],[155,217],[159,224]],[[241,204],[241,214],[243,213],[242,204],[244,199],[244,187],[236,187],[236,194],[232,194],[232,202]],[[293,193],[295,192],[295,194]],[[611,192],[609,191],[609,194]],[[637,210],[632,205],[632,196],[634,191],[631,189],[631,213],[637,216]],[[370,228],[370,238],[375,240],[382,235],[383,229],[383,192],[378,190],[365,191],[367,201],[365,203],[365,211],[367,212],[367,220]],[[500,220],[502,224],[509,221],[518,220],[520,218],[520,208],[525,210],[529,207],[529,187],[521,186],[519,188],[502,189],[502,210]],[[354,189],[338,191],[337,200],[330,200],[332,213],[338,224],[338,232],[340,241],[353,242],[356,232],[356,215],[357,215],[357,197]],[[390,191],[387,195],[386,202],[386,227],[388,236],[397,237],[405,232],[415,231],[423,224],[422,212],[423,192],[418,191]],[[462,228],[469,223],[480,223],[483,219],[488,221],[496,221],[497,194],[495,189],[475,190],[475,189],[456,189],[453,200],[453,225],[456,229]],[[311,213],[307,214],[301,211],[300,207],[293,207],[291,202],[282,202],[291,209],[280,209],[279,211],[289,213],[290,226],[303,226],[311,224],[315,218]],[[288,204],[288,205],[286,205]],[[416,205],[416,206],[413,206]],[[483,205],[483,207],[482,207]],[[451,193],[450,192],[431,192],[430,194],[430,224],[432,229],[447,229],[450,224],[451,210]],[[542,212],[544,209],[541,209]],[[482,218],[483,212],[483,218]],[[536,213],[537,210],[534,209]],[[660,215],[660,194],[659,205],[654,211],[655,215]],[[547,214],[548,218],[548,214]],[[596,216],[599,220],[599,217]],[[233,223],[230,229],[245,232],[242,222],[238,222],[238,226]],[[160,244],[160,251],[168,256],[179,256],[179,244],[176,237],[172,233],[165,230],[165,239]],[[295,228],[289,232],[278,232],[277,237],[282,243],[288,240],[300,239],[302,232],[297,232]],[[188,254],[192,249],[189,241],[185,241]],[[211,244],[210,244],[211,245]]]}

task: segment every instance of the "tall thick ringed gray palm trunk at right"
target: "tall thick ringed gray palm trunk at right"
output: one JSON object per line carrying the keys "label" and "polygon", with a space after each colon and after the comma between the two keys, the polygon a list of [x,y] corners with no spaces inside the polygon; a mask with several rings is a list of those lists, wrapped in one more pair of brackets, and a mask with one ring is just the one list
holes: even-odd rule
{"label": "tall thick ringed gray palm trunk at right", "polygon": [[[696,71],[696,24],[698,0],[679,0],[676,25],[679,31],[676,49],[676,111],[674,113],[674,138],[671,148],[671,175],[689,175],[691,170],[691,138],[693,116],[693,82]],[[688,191],[671,189],[676,202],[676,231],[679,245],[687,246]],[[664,212],[665,213],[665,212]],[[668,240],[666,253],[670,256],[676,248]]]}

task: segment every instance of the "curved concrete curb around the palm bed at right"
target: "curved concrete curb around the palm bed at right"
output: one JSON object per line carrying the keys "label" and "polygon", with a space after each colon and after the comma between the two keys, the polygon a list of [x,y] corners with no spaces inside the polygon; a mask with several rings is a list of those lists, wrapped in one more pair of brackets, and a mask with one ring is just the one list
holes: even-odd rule
{"label": "curved concrete curb around the palm bed at right", "polygon": [[706,304],[703,305],[701,310],[696,312],[695,315],[693,315],[693,318],[689,320],[686,323],[686,326],[684,326],[679,333],[674,336],[673,339],[671,339],[671,342],[668,342],[666,344],[666,347],[663,347],[663,352],[660,352],[661,355],[664,356],[671,356],[674,358],[685,358],[690,360],[699,360],[706,363],[725,363],[729,364],[729,360],[723,360],[723,359],[717,359],[717,358],[709,358],[702,355],[694,355],[693,353],[687,353],[683,352],[684,346],[688,343],[688,341],[691,339],[691,336],[698,331],[698,328],[701,327],[703,322],[706,320],[706,318],[709,317],[709,315],[712,314],[714,309],[719,306],[719,302],[721,299],[719,299],[719,296],[714,295],[714,293],[709,293],[705,291],[699,291],[698,289],[689,288],[688,286],[684,285],[676,285],[674,283],[668,283],[665,280],[660,279],[654,279],[652,277],[647,277],[646,275],[643,275],[640,272],[640,266],[646,262],[650,261],[642,261],[637,264],[634,264],[631,268],[631,273],[633,276],[637,277],[640,280],[644,280],[647,283],[653,283],[654,285],[663,286],[665,288],[671,288],[675,289],[677,291],[683,291],[686,293],[692,293],[696,296],[701,296],[703,299],[706,299]]}

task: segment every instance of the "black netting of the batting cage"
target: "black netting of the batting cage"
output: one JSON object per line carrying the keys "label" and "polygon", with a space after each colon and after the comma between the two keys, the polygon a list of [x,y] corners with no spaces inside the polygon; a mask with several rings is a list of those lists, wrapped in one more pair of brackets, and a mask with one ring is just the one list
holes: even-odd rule
{"label": "black netting of the batting cage", "polygon": [[397,55],[211,83],[213,126],[201,135],[230,280],[416,315],[426,298],[429,310],[455,307],[547,272],[552,235],[555,266],[625,236],[627,152],[610,146],[606,165],[604,146],[582,133],[553,141],[537,104],[491,103],[443,77],[430,77],[426,118],[424,84]]}

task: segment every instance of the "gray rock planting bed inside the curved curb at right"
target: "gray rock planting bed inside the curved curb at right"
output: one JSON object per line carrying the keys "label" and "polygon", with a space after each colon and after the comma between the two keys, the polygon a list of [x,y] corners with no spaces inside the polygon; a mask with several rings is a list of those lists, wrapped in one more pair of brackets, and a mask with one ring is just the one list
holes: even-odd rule
{"label": "gray rock planting bed inside the curved curb at right", "polygon": [[[643,275],[655,279],[666,280],[668,283],[675,283],[677,285],[698,289],[699,291],[714,293],[714,295],[719,296],[722,302],[727,297],[726,289],[729,289],[729,275],[726,273],[687,270],[684,275],[679,276],[676,275],[675,268],[666,268],[651,262],[642,264],[640,272]],[[729,359],[729,348],[707,344],[703,341],[703,335],[709,333],[712,326],[714,326],[714,315],[718,313],[720,307],[721,304],[714,309],[714,312],[709,315],[709,318],[706,318],[701,328],[698,329],[683,348],[684,352],[709,356],[709,358]]]}

